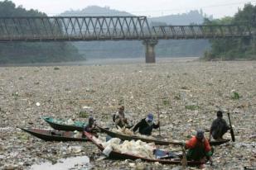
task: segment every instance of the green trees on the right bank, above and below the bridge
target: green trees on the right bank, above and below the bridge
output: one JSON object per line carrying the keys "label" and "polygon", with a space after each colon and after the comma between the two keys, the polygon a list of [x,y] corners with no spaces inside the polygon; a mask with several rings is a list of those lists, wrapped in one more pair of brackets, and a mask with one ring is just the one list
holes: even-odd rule
{"label": "green trees on the right bank, above and below the bridge", "polygon": [[[246,4],[234,17],[220,20],[205,20],[205,24],[249,24],[251,31],[256,30],[256,6]],[[210,40],[211,49],[205,51],[204,60],[248,60],[256,59],[256,40],[254,38]]]}

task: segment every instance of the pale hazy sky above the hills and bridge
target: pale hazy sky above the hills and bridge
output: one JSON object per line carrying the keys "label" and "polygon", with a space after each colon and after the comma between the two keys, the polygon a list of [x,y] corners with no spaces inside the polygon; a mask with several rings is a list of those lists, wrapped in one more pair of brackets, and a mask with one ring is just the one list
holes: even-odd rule
{"label": "pale hazy sky above the hills and bridge", "polygon": [[[2,0],[1,0],[2,1]],[[110,7],[134,15],[158,17],[202,9],[214,18],[233,16],[244,3],[256,4],[256,0],[12,0],[17,6],[38,9],[48,16],[55,16],[70,9],[88,6]]]}

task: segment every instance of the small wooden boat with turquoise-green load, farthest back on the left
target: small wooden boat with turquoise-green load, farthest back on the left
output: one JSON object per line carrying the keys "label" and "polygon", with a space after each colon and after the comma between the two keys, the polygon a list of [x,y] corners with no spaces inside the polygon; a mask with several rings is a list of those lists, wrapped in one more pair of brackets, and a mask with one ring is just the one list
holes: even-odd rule
{"label": "small wooden boat with turquoise-green load, farthest back on the left", "polygon": [[85,123],[81,121],[74,121],[74,124],[67,125],[65,124],[65,120],[59,120],[48,116],[43,116],[43,120],[45,120],[51,127],[55,130],[66,130],[66,131],[83,131],[85,127]]}

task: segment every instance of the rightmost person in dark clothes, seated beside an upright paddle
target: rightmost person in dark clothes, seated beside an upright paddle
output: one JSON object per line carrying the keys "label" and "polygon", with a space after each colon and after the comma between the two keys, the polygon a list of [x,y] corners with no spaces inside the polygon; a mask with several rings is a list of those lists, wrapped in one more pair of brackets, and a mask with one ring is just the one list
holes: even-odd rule
{"label": "rightmost person in dark clothes, seated beside an upright paddle", "polygon": [[211,136],[213,137],[213,139],[217,139],[217,140],[223,139],[223,135],[225,135],[225,133],[228,130],[230,130],[229,125],[222,117],[223,117],[222,111],[217,111],[217,119],[215,119],[210,126],[209,140]]}

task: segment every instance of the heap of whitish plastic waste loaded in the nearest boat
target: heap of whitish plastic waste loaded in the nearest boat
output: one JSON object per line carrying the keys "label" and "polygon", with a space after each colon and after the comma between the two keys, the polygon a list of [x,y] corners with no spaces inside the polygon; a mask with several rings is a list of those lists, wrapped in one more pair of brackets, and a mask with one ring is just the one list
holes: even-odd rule
{"label": "heap of whitish plastic waste loaded in the nearest boat", "polygon": [[112,138],[108,142],[104,142],[104,139],[97,139],[95,137],[93,139],[97,143],[102,144],[104,147],[103,153],[106,156],[109,156],[109,153],[114,150],[119,153],[133,154],[143,158],[155,158],[153,150],[156,149],[156,146],[153,143],[147,144],[141,140],[124,140],[123,143],[121,143],[121,139],[118,138]]}

